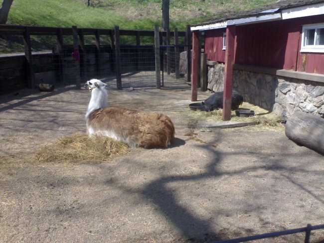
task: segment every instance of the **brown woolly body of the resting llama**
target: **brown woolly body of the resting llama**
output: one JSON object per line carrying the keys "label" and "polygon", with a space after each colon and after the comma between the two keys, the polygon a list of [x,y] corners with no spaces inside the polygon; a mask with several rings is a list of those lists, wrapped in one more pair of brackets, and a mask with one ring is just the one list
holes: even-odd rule
{"label": "brown woolly body of the resting llama", "polygon": [[93,111],[88,127],[99,134],[113,131],[119,140],[144,148],[166,148],[174,138],[174,125],[167,116],[123,107]]}

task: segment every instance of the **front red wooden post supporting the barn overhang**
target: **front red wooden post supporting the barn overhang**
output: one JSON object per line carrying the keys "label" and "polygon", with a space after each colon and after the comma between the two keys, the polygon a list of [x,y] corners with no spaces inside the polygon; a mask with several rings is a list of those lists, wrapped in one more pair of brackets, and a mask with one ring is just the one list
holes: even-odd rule
{"label": "front red wooden post supporting the barn overhang", "polygon": [[224,93],[223,93],[223,113],[222,120],[231,120],[232,105],[232,84],[233,84],[233,64],[234,64],[234,44],[235,44],[235,25],[226,28],[226,53],[225,53],[225,74],[224,74]]}

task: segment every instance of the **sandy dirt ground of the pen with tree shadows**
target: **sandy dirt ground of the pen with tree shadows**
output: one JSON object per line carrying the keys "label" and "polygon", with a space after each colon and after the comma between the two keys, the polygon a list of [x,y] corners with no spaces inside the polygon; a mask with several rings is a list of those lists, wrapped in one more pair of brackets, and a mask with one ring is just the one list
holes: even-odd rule
{"label": "sandy dirt ground of the pen with tree shadows", "polygon": [[[43,144],[85,132],[90,93],[1,96],[0,242],[202,243],[324,224],[323,155],[284,128],[201,128],[189,99],[183,81],[112,89],[110,105],[168,115],[172,146],[133,148],[110,162],[39,163],[32,156]],[[321,241],[324,231],[312,231],[311,242]]]}

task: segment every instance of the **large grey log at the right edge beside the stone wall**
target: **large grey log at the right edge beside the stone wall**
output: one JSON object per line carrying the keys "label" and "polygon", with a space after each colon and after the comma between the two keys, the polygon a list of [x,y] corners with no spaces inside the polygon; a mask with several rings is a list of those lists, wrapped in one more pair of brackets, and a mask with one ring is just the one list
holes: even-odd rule
{"label": "large grey log at the right edge beside the stone wall", "polygon": [[323,118],[295,112],[286,122],[285,133],[294,142],[324,154]]}

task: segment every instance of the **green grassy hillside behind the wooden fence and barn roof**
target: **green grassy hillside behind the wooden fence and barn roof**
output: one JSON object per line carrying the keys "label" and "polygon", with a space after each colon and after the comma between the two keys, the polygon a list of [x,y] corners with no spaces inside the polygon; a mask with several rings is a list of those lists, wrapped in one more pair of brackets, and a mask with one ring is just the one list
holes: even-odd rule
{"label": "green grassy hillside behind the wooden fence and barn roof", "polygon": [[[216,18],[229,11],[276,0],[170,0],[170,29]],[[14,0],[7,24],[153,30],[161,25],[162,0]]]}

